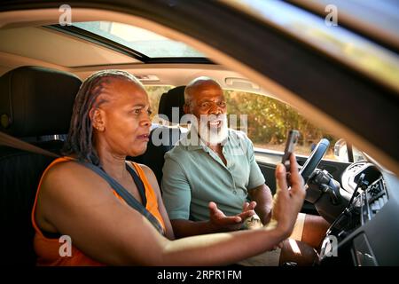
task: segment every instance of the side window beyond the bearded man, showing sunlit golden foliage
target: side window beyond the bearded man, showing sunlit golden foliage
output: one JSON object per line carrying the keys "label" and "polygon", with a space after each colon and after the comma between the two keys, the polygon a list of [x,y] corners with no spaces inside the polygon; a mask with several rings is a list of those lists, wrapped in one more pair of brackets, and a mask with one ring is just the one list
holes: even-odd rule
{"label": "side window beyond the bearded man, showing sunlit golden foliage", "polygon": [[[301,137],[295,148],[296,154],[309,155],[321,138],[330,141],[325,159],[338,160],[334,144],[338,140],[323,128],[313,125],[292,106],[261,94],[245,91],[224,91],[229,114],[229,126],[243,130],[254,147],[284,152],[286,135],[296,129]],[[237,115],[237,123],[232,114]],[[245,122],[246,120],[246,122]]]}

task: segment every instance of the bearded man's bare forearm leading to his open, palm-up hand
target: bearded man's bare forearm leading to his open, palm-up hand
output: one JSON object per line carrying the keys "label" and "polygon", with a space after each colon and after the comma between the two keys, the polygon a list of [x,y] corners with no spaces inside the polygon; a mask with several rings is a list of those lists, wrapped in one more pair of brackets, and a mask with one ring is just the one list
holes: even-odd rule
{"label": "bearded man's bare forearm leading to his open, palm-up hand", "polygon": [[170,220],[176,239],[206,233],[219,233],[209,221],[190,221],[184,219]]}

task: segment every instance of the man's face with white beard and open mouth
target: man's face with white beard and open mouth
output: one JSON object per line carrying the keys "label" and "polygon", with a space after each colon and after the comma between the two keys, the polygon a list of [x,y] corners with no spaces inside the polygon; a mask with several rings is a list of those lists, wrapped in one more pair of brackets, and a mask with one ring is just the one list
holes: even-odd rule
{"label": "man's face with white beard and open mouth", "polygon": [[197,118],[200,137],[211,145],[221,143],[227,137],[227,106],[222,88],[206,81],[193,88],[191,94],[191,104],[186,106],[186,112]]}

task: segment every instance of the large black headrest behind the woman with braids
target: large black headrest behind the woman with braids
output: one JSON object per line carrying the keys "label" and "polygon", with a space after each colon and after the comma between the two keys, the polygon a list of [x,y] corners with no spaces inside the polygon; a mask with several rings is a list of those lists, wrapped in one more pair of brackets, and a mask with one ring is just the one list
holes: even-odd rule
{"label": "large black headrest behind the woman with braids", "polygon": [[81,80],[45,67],[18,67],[0,77],[0,130],[15,137],[64,134]]}

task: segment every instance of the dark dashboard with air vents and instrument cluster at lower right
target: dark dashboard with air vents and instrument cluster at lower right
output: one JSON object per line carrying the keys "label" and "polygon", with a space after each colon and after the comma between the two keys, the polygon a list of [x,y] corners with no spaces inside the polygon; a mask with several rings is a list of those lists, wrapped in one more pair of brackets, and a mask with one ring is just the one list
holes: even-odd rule
{"label": "dark dashboard with air vents and instrument cluster at lower right", "polygon": [[399,265],[398,178],[363,161],[349,165],[340,184],[353,198],[327,231],[320,264]]}

